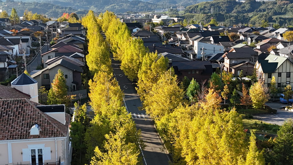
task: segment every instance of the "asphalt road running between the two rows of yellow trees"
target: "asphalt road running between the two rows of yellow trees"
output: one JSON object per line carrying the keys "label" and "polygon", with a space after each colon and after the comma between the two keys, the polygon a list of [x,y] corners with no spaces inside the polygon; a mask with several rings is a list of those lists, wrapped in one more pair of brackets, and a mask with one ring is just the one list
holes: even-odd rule
{"label": "asphalt road running between the two rows of yellow trees", "polygon": [[154,127],[154,124],[150,117],[146,115],[145,111],[139,111],[138,107],[141,107],[141,101],[137,91],[135,90],[135,84],[124,75],[120,69],[119,61],[115,61],[112,57],[113,72],[120,88],[125,94],[125,106],[127,111],[132,114],[137,129],[141,129],[142,139],[146,145],[142,151],[143,164],[145,165],[168,165],[168,161],[171,158],[163,146],[162,140]]}

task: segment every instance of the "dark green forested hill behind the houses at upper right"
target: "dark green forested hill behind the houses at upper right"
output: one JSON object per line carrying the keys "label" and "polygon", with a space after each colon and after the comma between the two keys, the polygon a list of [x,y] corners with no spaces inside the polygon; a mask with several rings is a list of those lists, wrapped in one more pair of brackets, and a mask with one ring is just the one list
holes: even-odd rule
{"label": "dark green forested hill behind the houses at upper right", "polygon": [[[262,1],[247,0],[244,3],[235,0],[214,0],[202,2],[186,7],[185,18],[188,21],[207,22],[215,18],[224,25],[239,23],[260,25],[264,21],[268,24],[279,24],[285,27],[293,25],[293,4],[292,0],[284,1]],[[211,9],[213,12],[211,12]]]}

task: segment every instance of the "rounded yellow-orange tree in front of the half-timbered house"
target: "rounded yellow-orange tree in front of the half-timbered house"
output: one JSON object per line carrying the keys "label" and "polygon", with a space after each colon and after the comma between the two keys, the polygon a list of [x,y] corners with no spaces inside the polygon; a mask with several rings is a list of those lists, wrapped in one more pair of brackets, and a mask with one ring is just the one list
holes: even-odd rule
{"label": "rounded yellow-orange tree in front of the half-timbered house", "polygon": [[265,87],[263,81],[258,81],[251,85],[249,95],[252,100],[252,105],[255,109],[262,108],[270,99],[268,88]]}

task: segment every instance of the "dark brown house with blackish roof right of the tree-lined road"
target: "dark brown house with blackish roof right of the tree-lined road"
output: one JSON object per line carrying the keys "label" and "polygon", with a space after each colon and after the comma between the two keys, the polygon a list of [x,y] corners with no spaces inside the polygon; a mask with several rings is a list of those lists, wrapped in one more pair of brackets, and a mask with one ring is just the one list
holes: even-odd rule
{"label": "dark brown house with blackish roof right of the tree-lined road", "polygon": [[194,78],[197,82],[201,82],[209,80],[213,73],[212,64],[209,61],[172,61],[169,65],[174,68],[180,80],[186,76],[190,80]]}

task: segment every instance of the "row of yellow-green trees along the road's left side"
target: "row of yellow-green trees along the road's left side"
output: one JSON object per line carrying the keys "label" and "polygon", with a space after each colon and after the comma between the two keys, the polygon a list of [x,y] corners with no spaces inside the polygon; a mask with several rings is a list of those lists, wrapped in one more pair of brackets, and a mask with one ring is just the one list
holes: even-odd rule
{"label": "row of yellow-green trees along the road's left side", "polygon": [[85,134],[86,157],[91,159],[91,164],[134,165],[141,161],[141,133],[123,106],[123,92],[113,79],[109,46],[100,33],[100,29],[108,28],[104,23],[107,16],[96,17],[89,11],[82,18],[82,24],[87,28],[86,62],[94,75],[89,81],[89,97],[95,117]]}

